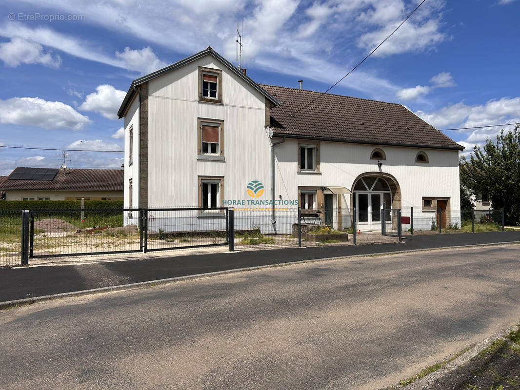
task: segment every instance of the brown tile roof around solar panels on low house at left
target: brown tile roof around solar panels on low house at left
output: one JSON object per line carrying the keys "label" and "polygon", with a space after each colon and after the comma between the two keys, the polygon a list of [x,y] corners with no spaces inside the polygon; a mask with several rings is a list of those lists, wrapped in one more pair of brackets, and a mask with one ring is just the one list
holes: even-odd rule
{"label": "brown tile roof around solar panels on low house at left", "polygon": [[123,191],[123,170],[58,170],[53,180],[0,179],[1,190]]}

